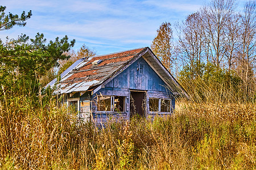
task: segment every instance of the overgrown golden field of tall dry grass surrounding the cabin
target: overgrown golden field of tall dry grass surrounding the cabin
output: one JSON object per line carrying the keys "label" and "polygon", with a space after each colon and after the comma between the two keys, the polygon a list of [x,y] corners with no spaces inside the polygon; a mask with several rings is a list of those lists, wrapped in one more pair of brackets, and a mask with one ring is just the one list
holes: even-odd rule
{"label": "overgrown golden field of tall dry grass surrounding the cabin", "polygon": [[255,169],[254,104],[183,103],[154,121],[76,124],[56,101],[0,103],[6,169]]}

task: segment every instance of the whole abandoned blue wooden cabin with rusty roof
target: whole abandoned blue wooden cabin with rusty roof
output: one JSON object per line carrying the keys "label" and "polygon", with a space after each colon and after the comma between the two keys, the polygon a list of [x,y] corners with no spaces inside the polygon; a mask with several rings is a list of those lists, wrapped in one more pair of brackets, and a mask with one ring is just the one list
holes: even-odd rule
{"label": "whole abandoned blue wooden cabin with rusty roof", "polygon": [[79,118],[96,123],[110,117],[171,114],[175,96],[186,95],[148,47],[81,58],[59,82],[55,79],[47,86],[54,84],[53,95],[61,98],[61,104],[73,105]]}

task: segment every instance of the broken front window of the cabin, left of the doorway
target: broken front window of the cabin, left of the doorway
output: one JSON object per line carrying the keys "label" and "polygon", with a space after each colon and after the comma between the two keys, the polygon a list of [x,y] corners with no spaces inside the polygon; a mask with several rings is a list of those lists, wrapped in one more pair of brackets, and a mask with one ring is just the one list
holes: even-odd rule
{"label": "broken front window of the cabin, left of the doorway", "polygon": [[98,96],[97,110],[125,112],[125,96]]}

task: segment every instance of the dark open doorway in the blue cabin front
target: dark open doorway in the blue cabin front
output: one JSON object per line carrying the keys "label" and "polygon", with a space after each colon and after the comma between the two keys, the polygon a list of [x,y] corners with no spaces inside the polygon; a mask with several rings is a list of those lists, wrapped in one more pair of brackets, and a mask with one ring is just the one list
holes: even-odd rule
{"label": "dark open doorway in the blue cabin front", "polygon": [[131,91],[130,93],[130,117],[146,117],[145,92]]}

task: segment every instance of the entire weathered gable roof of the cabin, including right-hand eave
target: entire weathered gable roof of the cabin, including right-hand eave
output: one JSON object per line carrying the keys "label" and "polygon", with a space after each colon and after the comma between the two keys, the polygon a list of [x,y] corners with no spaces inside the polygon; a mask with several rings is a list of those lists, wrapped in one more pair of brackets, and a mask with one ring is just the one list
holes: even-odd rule
{"label": "entire weathered gable roof of the cabin, including right-hand eave", "polygon": [[[100,89],[140,57],[143,57],[156,71],[167,86],[171,88],[172,92],[187,96],[174,76],[170,74],[148,47],[94,56],[88,59],[81,58],[61,74],[60,82],[57,83],[57,88],[53,94],[87,91],[96,87]],[[47,86],[53,86],[55,83],[56,79],[48,83]],[[95,91],[97,90],[94,89]]]}

